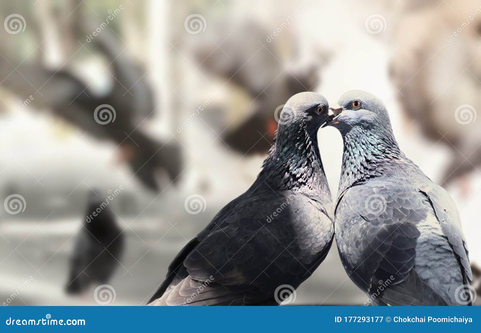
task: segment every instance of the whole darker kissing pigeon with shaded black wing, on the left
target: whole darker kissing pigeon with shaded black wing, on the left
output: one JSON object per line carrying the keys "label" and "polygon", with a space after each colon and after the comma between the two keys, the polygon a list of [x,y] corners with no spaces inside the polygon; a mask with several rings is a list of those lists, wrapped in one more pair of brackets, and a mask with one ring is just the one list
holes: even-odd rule
{"label": "whole darker kissing pigeon with shaded black wing, on the left", "polygon": [[292,96],[253,185],[172,261],[149,305],[278,305],[320,265],[334,215],[317,147],[327,100]]}

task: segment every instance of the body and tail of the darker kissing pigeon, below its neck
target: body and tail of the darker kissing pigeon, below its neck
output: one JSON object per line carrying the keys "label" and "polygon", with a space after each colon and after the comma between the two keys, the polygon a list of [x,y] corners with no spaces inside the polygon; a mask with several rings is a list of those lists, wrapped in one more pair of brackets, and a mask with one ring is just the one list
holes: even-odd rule
{"label": "body and tail of the darker kissing pigeon, below its neck", "polygon": [[[269,301],[281,284],[298,281],[296,288],[298,276],[307,278],[322,261],[314,261],[312,253],[327,253],[333,235],[332,222],[309,201],[304,196],[233,200],[174,259],[169,271],[176,274],[151,302],[162,295],[157,303],[166,305],[258,304]],[[315,226],[305,222],[316,217]],[[199,285],[205,288],[192,301],[192,288]]]}

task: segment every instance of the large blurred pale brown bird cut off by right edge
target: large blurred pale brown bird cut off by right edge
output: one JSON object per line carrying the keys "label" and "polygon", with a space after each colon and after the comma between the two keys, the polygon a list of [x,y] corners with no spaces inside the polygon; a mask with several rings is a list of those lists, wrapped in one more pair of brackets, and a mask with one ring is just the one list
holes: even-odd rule
{"label": "large blurred pale brown bird cut off by right edge", "polygon": [[[402,109],[423,135],[451,149],[450,184],[481,165],[479,1],[443,1],[409,12],[397,26],[390,64]],[[479,9],[478,9],[479,10]]]}

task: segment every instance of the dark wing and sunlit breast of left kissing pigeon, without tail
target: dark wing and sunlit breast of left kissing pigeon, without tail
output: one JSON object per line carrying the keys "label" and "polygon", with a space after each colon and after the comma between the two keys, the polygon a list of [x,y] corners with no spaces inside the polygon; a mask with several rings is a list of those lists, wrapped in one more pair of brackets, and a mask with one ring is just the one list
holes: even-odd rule
{"label": "dark wing and sunlit breast of left kissing pigeon, without tail", "polygon": [[[307,223],[313,219],[319,222]],[[272,297],[277,286],[310,276],[322,261],[313,253],[327,252],[332,234],[332,222],[307,197],[254,197],[236,205],[184,265],[192,278],[214,278],[244,294],[246,303],[258,303]]]}

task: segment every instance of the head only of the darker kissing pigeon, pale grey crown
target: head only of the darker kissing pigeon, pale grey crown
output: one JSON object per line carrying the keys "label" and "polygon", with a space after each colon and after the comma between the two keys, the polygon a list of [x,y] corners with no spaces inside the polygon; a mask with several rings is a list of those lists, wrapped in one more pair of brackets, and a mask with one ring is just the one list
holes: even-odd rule
{"label": "head only of the darker kissing pigeon, pale grey crown", "polygon": [[309,135],[315,135],[317,129],[331,119],[327,99],[306,91],[293,95],[284,105],[278,121],[278,131],[304,128]]}

